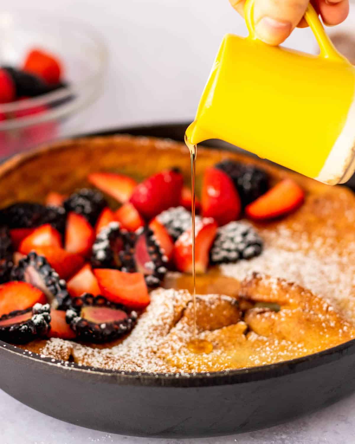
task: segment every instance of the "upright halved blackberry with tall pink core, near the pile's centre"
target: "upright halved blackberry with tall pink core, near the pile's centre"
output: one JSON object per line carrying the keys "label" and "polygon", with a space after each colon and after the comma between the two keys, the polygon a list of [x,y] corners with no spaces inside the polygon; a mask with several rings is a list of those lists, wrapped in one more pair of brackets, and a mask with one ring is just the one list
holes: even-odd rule
{"label": "upright halved blackberry with tall pink core, near the pile's centre", "polygon": [[128,273],[143,273],[149,287],[159,285],[166,274],[168,258],[149,227],[138,228],[135,238],[130,239],[119,256],[122,262],[121,270]]}

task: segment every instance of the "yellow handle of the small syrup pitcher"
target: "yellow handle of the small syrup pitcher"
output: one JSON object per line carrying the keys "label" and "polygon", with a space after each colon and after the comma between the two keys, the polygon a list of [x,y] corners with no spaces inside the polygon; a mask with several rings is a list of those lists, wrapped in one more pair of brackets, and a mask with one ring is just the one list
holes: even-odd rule
{"label": "yellow handle of the small syrup pitcher", "polygon": [[[246,0],[244,7],[244,15],[247,28],[249,31],[248,38],[252,40],[259,40],[256,37],[255,27],[254,27],[254,1],[255,0]],[[344,56],[342,56],[335,49],[334,45],[331,43],[331,40],[327,36],[327,33],[325,32],[323,25],[319,20],[316,10],[313,8],[313,6],[310,3],[308,4],[308,7],[306,9],[304,18],[306,19],[309,27],[312,29],[312,32],[319,44],[320,48],[319,56],[325,59],[331,59],[338,62],[349,63],[347,59]]]}

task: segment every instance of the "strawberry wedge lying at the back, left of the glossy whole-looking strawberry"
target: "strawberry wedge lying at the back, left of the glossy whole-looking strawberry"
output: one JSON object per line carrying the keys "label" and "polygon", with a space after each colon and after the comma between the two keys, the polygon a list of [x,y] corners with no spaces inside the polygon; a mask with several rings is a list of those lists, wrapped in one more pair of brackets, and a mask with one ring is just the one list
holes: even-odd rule
{"label": "strawberry wedge lying at the back, left of the glossy whole-looking strawberry", "polygon": [[137,186],[137,182],[134,179],[124,174],[91,173],[87,179],[99,190],[109,194],[121,203],[129,200],[134,188]]}

